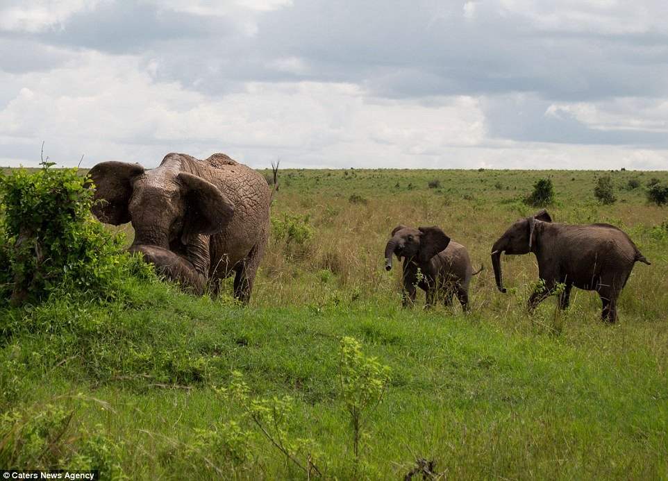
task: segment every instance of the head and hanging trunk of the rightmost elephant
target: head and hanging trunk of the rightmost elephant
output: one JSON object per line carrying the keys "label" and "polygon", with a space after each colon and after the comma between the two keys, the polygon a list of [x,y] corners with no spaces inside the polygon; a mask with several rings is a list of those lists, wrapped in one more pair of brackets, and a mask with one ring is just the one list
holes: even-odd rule
{"label": "head and hanging trunk of the rightmost elephant", "polygon": [[[527,254],[535,250],[537,230],[541,222],[551,222],[552,218],[546,210],[537,214],[519,219],[506,230],[492,246],[492,266],[494,267],[494,278],[499,291],[506,292],[503,287],[503,276],[501,275],[501,253],[506,255]],[[540,230],[540,229],[539,229]]]}

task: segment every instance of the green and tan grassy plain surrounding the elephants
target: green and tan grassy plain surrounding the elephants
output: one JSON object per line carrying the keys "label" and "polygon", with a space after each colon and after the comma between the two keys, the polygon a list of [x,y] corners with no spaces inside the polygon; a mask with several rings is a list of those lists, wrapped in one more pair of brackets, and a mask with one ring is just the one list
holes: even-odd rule
{"label": "green and tan grassy plain surrounding the elephants", "polygon": [[[594,199],[602,175],[613,205]],[[615,326],[576,289],[567,312],[550,298],[528,315],[533,255],[503,258],[508,294],[496,291],[492,243],[535,212],[521,198],[545,176],[555,221],[613,223],[653,264],[636,264]],[[238,371],[250,396],[292,396],[279,438],[309,446],[288,450],[323,478],[403,479],[424,458],[438,479],[668,479],[668,209],[646,202],[652,178],[668,172],[282,170],[249,307],[130,279],[115,303],[63,296],[1,313],[0,461],[306,479],[222,389]],[[424,294],[401,308],[401,269],[383,269],[399,223],[440,226],[485,267],[470,314],[424,311]],[[344,336],[391,369],[357,462]]]}

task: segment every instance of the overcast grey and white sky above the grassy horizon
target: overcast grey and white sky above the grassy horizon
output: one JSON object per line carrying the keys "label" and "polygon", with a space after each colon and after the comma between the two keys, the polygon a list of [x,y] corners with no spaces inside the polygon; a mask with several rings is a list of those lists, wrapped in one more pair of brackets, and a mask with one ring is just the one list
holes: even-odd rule
{"label": "overcast grey and white sky above the grassy horizon", "polygon": [[668,169],[667,0],[0,0],[0,85],[0,165]]}

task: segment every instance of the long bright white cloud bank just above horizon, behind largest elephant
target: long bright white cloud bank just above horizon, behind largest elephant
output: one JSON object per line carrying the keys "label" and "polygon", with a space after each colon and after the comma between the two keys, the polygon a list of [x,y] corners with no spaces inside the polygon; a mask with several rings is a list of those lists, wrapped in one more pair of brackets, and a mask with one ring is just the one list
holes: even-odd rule
{"label": "long bright white cloud bank just above horizon, behind largest elephant", "polygon": [[[72,148],[92,162],[128,155],[140,160],[131,146],[162,154],[194,146],[195,155],[250,149],[264,159],[283,152],[302,162],[360,165],[369,159],[356,158],[358,148],[406,158],[484,139],[483,115],[469,97],[428,106],[373,101],[346,83],[255,82],[208,99],[176,83],[155,83],[155,69],[137,58],[88,52],[76,68],[54,69],[48,77],[24,74],[23,86],[0,112],[0,130],[35,144],[47,140],[56,150],[51,158],[61,162],[78,160]],[[59,151],[65,144],[71,147]],[[333,158],[332,152],[346,149],[347,158]]]}

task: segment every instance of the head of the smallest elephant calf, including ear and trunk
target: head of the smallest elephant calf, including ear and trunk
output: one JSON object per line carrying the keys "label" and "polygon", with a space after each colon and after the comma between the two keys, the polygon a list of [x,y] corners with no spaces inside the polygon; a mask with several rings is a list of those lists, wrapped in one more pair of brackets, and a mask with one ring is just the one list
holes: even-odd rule
{"label": "head of the smallest elephant calf, including ear and trunk", "polygon": [[399,259],[415,259],[419,264],[426,264],[449,243],[450,237],[436,226],[417,229],[396,226],[385,246],[385,269],[392,269],[392,254]]}

